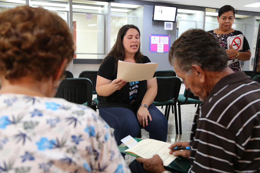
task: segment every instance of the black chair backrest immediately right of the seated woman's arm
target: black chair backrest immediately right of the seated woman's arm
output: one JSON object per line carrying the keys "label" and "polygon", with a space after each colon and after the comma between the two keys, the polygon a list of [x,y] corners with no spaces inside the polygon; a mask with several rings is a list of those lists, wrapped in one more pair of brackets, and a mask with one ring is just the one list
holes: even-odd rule
{"label": "black chair backrest immediately right of the seated woman's arm", "polygon": [[166,102],[174,99],[177,102],[181,80],[178,77],[156,77],[157,79],[157,95],[154,99],[155,102]]}

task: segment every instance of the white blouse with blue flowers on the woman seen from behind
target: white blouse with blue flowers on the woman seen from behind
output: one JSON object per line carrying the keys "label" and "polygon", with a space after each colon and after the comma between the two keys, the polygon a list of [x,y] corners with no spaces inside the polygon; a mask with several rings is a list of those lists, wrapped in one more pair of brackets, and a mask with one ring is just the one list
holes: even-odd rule
{"label": "white blouse with blue flowers on the woman seen from behind", "polygon": [[60,98],[0,94],[0,172],[130,172],[110,127]]}

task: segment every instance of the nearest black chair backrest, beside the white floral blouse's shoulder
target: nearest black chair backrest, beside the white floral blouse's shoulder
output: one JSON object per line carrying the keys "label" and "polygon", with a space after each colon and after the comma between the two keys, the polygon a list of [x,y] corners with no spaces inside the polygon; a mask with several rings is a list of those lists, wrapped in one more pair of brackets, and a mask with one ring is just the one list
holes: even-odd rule
{"label": "nearest black chair backrest, beside the white floral blouse's shoulder", "polygon": [[91,107],[92,82],[87,78],[67,78],[64,79],[55,95],[69,102],[83,104]]}

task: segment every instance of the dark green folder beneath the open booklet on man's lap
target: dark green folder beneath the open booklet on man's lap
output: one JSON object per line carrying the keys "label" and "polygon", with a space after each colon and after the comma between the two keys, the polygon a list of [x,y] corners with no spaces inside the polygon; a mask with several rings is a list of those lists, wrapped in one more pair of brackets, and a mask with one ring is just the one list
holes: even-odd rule
{"label": "dark green folder beneath the open booklet on man's lap", "polygon": [[[135,138],[135,137],[134,137],[134,139],[137,142],[141,141],[141,139],[138,139],[138,138]],[[128,149],[128,147],[125,144],[123,144],[123,143],[121,143],[118,146],[118,148],[119,148],[121,153],[125,153],[125,154],[129,154],[129,155],[132,155],[132,156],[135,156],[135,157],[139,157],[139,156],[137,156],[137,155],[135,155],[133,153],[124,152],[125,150]],[[180,171],[180,172],[187,172],[188,169],[190,168],[190,161],[187,158],[184,158],[182,156],[178,156],[167,167],[172,168],[172,169],[177,170],[177,171]]]}

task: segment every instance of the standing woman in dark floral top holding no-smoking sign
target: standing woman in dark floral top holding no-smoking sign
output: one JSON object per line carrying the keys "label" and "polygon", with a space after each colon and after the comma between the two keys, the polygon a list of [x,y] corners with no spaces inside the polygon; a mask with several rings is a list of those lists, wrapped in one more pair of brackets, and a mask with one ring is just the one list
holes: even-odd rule
{"label": "standing woman in dark floral top holding no-smoking sign", "polygon": [[[226,49],[226,53],[229,57],[235,57],[240,61],[248,61],[250,60],[251,52],[248,41],[245,37],[242,52],[236,51],[231,44],[229,44],[230,49],[228,49],[227,38],[243,34],[241,31],[237,31],[231,28],[234,23],[235,13],[235,9],[230,5],[224,5],[223,7],[221,7],[218,11],[217,16],[219,26],[217,29],[211,30],[209,32],[219,40],[220,45]],[[228,64],[228,66],[234,72],[241,71],[239,60],[232,64]]]}

